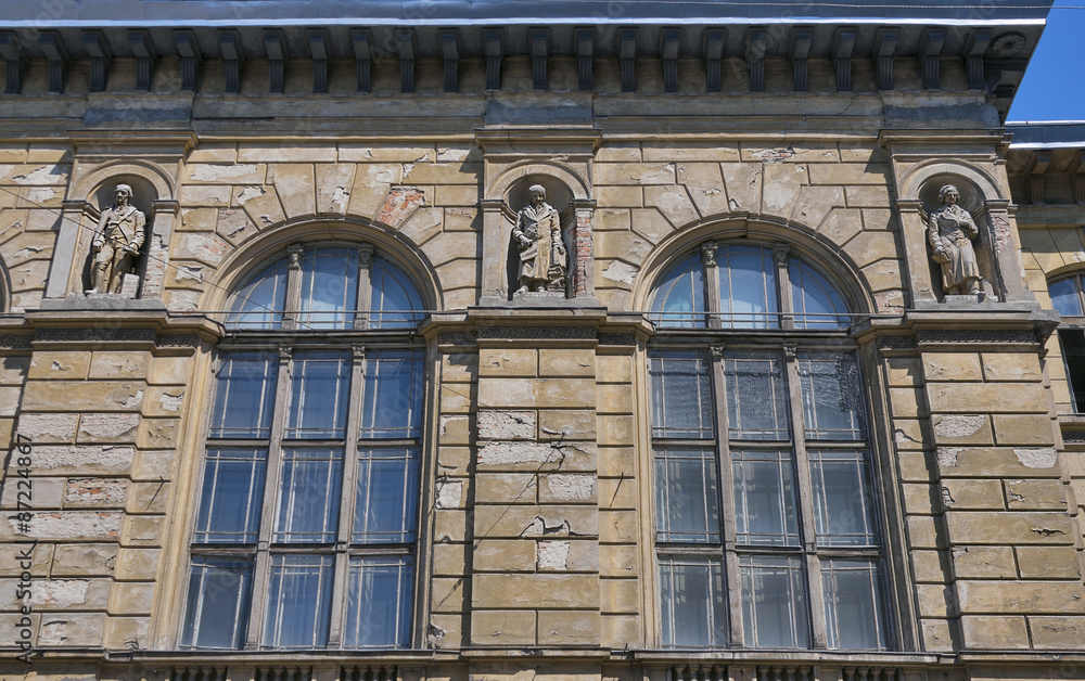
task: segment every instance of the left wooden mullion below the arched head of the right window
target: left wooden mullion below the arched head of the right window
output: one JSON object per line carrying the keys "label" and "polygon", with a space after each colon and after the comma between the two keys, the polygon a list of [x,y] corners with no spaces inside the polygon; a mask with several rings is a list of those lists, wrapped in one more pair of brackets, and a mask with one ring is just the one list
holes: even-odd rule
{"label": "left wooden mullion below the arched head of the right window", "polygon": [[[719,288],[717,287],[716,291]],[[718,320],[718,318],[717,318]],[[724,518],[724,569],[727,575],[728,637],[731,647],[742,647],[742,593],[739,584],[739,562],[735,553],[735,473],[728,442],[727,388],[724,375],[724,346],[712,346],[713,391],[716,400],[716,460],[719,463],[719,513]],[[731,502],[728,503],[728,498]]]}

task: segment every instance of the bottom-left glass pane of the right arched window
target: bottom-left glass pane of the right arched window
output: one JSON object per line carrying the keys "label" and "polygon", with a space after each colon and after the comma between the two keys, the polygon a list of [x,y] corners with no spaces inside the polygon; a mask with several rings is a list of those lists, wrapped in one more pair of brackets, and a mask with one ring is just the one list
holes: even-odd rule
{"label": "bottom-left glass pane of the right arched window", "polygon": [[660,556],[663,645],[727,645],[718,558]]}

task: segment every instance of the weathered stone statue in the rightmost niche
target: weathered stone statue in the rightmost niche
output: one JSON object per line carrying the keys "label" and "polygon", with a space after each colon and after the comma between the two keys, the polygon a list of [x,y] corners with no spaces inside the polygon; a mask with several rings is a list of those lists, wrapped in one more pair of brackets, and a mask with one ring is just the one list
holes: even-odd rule
{"label": "weathered stone statue in the rightmost niche", "polygon": [[956,187],[943,187],[939,201],[942,207],[927,220],[927,239],[931,258],[942,269],[942,291],[946,295],[975,295],[980,293],[980,268],[972,240],[980,230],[968,210],[957,205],[960,192]]}

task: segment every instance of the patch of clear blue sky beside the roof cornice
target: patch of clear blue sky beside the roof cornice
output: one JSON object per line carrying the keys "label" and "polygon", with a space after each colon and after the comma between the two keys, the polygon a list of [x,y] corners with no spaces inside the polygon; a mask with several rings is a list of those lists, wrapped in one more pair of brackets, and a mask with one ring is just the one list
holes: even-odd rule
{"label": "patch of clear blue sky beside the roof cornice", "polygon": [[1085,0],[1056,0],[1008,120],[1085,120]]}

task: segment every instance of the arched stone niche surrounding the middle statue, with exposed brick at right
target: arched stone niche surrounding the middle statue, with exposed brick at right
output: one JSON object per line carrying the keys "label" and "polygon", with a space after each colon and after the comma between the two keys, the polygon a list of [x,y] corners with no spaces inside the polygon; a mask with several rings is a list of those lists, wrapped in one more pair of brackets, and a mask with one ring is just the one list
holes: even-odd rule
{"label": "arched stone niche surrounding the middle statue, with exposed brick at right", "polygon": [[[519,285],[520,252],[513,243],[518,214],[531,203],[529,189],[546,190],[546,203],[561,222],[567,254],[564,294],[514,295]],[[486,189],[484,213],[484,304],[595,305],[591,218],[595,201],[590,184],[576,169],[560,162],[527,160],[512,164]]]}

